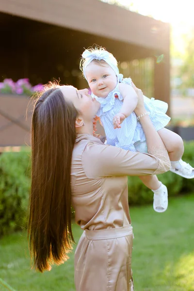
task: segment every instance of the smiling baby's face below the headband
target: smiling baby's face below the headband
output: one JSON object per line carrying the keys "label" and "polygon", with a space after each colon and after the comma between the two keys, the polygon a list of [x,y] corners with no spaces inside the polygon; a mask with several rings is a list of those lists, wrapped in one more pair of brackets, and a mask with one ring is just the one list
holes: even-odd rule
{"label": "smiling baby's face below the headband", "polygon": [[117,84],[117,77],[110,65],[91,62],[85,70],[86,78],[94,95],[106,98]]}

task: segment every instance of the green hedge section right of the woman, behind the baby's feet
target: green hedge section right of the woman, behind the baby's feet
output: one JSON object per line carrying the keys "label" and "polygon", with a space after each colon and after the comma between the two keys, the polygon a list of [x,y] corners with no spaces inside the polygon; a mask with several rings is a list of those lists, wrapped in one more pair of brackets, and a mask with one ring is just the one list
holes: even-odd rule
{"label": "green hedge section right of the woman, behind the baby's feet", "polygon": [[[194,141],[185,142],[182,160],[194,167]],[[194,191],[194,179],[185,179],[172,172],[158,175],[159,180],[168,188],[169,196]],[[146,188],[138,177],[128,177],[129,205],[141,205],[153,202],[153,192]]]}

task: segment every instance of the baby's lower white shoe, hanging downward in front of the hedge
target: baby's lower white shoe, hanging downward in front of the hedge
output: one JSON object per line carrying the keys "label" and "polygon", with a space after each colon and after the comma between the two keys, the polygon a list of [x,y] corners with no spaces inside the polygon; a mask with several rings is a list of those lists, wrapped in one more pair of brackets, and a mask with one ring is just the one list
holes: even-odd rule
{"label": "baby's lower white shoe, hanging downward in front of the hedge", "polygon": [[161,186],[154,192],[153,208],[156,212],[164,212],[168,208],[168,190],[165,185]]}

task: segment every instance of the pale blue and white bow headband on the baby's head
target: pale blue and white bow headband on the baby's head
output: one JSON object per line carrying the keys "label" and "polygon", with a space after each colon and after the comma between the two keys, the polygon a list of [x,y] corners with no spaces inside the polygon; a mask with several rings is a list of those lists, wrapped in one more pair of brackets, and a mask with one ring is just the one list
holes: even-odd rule
{"label": "pale blue and white bow headband on the baby's head", "polygon": [[[107,51],[107,50],[96,50],[94,52],[90,52],[88,49],[86,49],[82,53],[82,57],[86,60],[84,66],[83,66],[83,75],[86,78],[85,74],[85,69],[86,67],[93,61],[93,60],[98,60],[98,61],[105,61],[108,65],[110,65],[115,72],[117,77],[120,77],[119,75],[119,70],[117,65],[115,65],[114,57]],[[120,79],[120,78],[119,78]]]}

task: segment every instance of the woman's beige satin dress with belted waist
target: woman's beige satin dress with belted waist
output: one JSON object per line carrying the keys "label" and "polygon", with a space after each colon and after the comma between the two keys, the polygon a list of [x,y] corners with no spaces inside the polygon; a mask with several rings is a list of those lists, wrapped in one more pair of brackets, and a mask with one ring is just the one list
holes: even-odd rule
{"label": "woman's beige satin dress with belted waist", "polygon": [[84,231],[75,252],[76,291],[133,290],[127,175],[165,172],[165,151],[155,149],[154,154],[78,135],[72,156],[72,203],[76,223]]}

